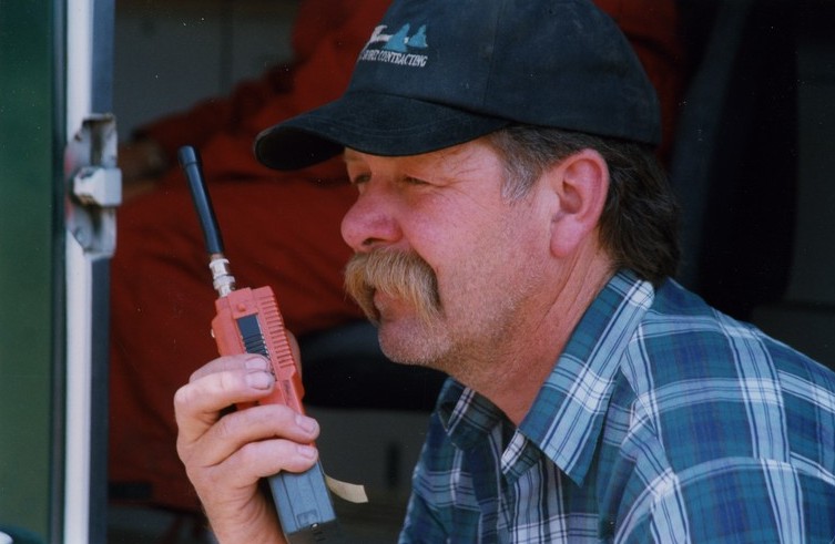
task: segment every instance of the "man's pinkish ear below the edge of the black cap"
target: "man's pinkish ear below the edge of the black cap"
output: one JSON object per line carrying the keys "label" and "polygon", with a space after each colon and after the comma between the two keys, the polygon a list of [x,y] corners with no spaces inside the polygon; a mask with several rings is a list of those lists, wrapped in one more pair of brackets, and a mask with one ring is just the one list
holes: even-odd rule
{"label": "man's pinkish ear below the edge of the black cap", "polygon": [[554,164],[546,175],[556,196],[551,253],[567,257],[584,243],[597,240],[598,222],[609,192],[609,167],[600,153],[583,150]]}

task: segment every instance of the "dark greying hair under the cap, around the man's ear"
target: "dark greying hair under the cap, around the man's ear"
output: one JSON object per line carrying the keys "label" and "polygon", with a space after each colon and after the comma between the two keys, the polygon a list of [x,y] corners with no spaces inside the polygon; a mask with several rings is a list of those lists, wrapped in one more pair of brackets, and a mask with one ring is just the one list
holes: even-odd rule
{"label": "dark greying hair under the cap, around the man's ear", "polygon": [[507,173],[503,195],[525,196],[549,166],[582,150],[609,166],[600,242],[615,269],[658,286],[675,276],[681,258],[679,206],[654,151],[644,144],[559,129],[510,125],[488,136]]}

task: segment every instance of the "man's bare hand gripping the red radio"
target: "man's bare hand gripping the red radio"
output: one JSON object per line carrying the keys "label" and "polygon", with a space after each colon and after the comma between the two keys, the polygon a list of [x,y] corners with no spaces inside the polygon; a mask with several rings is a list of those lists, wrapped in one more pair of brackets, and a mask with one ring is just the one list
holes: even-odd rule
{"label": "man's bare hand gripping the red radio", "polygon": [[259,356],[222,357],[192,374],[174,397],[177,453],[221,543],[284,543],[259,479],[303,472],[318,453],[315,420],[281,404],[222,415],[225,408],[266,397],[275,380]]}

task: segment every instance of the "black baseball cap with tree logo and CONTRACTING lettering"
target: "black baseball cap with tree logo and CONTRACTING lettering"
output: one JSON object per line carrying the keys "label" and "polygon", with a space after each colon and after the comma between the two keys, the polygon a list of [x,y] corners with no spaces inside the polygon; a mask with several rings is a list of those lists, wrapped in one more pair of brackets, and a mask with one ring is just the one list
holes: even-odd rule
{"label": "black baseball cap with tree logo and CONTRACTING lettering", "polygon": [[263,131],[255,156],[296,170],[345,147],[417,155],[518,123],[661,137],[652,84],[590,0],[395,0],[342,97]]}

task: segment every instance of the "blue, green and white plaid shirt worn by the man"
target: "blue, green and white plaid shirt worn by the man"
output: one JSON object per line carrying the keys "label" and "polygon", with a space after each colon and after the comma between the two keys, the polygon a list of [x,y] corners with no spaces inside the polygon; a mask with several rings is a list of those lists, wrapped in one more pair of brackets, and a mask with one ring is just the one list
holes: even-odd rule
{"label": "blue, green and white plaid shirt worn by the man", "polygon": [[618,274],[519,428],[447,382],[400,542],[832,542],[834,391],[675,283]]}

